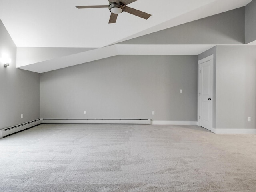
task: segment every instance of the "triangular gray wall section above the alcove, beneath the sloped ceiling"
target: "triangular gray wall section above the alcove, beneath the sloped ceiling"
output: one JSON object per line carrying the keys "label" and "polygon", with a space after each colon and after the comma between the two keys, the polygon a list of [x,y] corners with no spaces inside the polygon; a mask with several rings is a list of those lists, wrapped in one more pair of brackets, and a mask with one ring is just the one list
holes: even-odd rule
{"label": "triangular gray wall section above the alcove, beneath the sloped ceiling", "polygon": [[242,7],[119,44],[244,44],[244,22]]}

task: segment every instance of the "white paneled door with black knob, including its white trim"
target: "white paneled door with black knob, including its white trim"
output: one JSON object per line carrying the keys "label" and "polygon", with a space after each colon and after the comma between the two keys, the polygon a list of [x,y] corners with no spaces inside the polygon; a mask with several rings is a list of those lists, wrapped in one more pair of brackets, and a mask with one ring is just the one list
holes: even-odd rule
{"label": "white paneled door with black knob, including its white trim", "polygon": [[212,130],[213,55],[198,61],[199,125]]}

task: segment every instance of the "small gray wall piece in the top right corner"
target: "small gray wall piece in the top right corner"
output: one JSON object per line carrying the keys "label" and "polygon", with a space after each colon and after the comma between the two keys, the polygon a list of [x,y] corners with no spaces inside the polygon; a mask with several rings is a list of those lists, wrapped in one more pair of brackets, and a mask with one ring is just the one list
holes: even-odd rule
{"label": "small gray wall piece in the top right corner", "polygon": [[256,0],[245,6],[245,43],[256,40]]}

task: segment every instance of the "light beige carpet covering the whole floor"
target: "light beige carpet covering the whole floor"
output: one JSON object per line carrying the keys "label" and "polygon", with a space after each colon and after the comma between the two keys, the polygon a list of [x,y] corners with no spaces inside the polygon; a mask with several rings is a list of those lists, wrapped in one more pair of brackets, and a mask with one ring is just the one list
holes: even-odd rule
{"label": "light beige carpet covering the whole floor", "polygon": [[256,135],[39,125],[0,139],[0,192],[255,192]]}

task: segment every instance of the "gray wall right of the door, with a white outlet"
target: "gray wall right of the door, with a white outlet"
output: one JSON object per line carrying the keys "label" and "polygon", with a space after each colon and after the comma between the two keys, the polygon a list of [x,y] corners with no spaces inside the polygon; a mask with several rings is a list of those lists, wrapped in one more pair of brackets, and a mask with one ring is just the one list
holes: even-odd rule
{"label": "gray wall right of the door, with a white outlet", "polygon": [[255,129],[255,53],[256,46],[217,46],[216,128]]}

